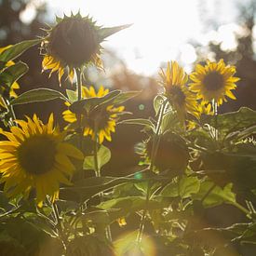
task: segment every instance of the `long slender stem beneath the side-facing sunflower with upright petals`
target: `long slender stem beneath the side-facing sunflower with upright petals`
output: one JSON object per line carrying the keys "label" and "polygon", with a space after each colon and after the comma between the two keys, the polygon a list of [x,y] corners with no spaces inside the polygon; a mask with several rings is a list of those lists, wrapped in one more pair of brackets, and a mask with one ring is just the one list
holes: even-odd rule
{"label": "long slender stem beneath the side-facing sunflower with upright petals", "polygon": [[[156,129],[155,129],[155,136],[153,138],[153,145],[152,145],[152,152],[151,152],[151,163],[149,167],[149,171],[153,171],[154,165],[155,165],[155,156],[157,154],[158,146],[159,146],[159,141],[160,141],[160,133],[161,133],[161,124],[163,121],[163,117],[165,114],[166,107],[168,105],[168,101],[164,101],[160,107],[159,115],[158,115],[158,120],[156,124]],[[141,243],[144,228],[145,228],[145,222],[146,222],[146,215],[148,211],[148,204],[150,200],[150,191],[151,191],[151,182],[148,180],[147,182],[147,190],[146,190],[146,201],[145,201],[145,207],[143,209],[142,215],[141,215],[141,222],[140,222],[140,228],[139,232],[136,237],[136,242]]]}

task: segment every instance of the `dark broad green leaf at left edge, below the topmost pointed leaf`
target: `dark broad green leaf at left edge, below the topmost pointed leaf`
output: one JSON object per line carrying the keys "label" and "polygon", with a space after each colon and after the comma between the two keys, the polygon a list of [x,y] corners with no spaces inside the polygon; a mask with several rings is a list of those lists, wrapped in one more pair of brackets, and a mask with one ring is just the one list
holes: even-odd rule
{"label": "dark broad green leaf at left edge, below the topmost pointed leaf", "polygon": [[0,83],[7,85],[8,88],[16,82],[23,74],[26,74],[29,70],[29,67],[24,62],[17,62],[14,65],[8,66],[0,74]]}

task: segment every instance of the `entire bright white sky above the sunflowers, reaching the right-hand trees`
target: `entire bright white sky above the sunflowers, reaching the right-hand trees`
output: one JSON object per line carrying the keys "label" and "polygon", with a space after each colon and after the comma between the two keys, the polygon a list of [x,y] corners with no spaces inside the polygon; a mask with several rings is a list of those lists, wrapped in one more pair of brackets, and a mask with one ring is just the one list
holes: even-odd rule
{"label": "entire bright white sky above the sunflowers, reaching the right-hand trees", "polygon": [[[203,30],[202,14],[227,24],[222,26],[219,40],[226,47],[234,47],[232,0],[47,0],[47,3],[52,16],[69,14],[71,10],[76,13],[80,9],[99,25],[132,23],[127,30],[109,37],[102,46],[115,50],[128,68],[139,74],[155,74],[161,63],[177,59],[189,69],[195,61],[195,48],[188,40],[207,43],[217,36],[212,28]],[[198,7],[202,3],[205,10],[200,12]]]}

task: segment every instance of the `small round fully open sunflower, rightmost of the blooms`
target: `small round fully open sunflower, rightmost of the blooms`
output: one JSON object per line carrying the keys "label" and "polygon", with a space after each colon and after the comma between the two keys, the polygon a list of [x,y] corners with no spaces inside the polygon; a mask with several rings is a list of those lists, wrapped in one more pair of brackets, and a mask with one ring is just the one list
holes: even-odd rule
{"label": "small round fully open sunflower, rightmost of the blooms", "polygon": [[239,81],[239,78],[234,76],[235,73],[236,67],[226,66],[223,60],[207,61],[205,66],[197,64],[195,73],[190,75],[190,79],[194,82],[190,84],[190,88],[197,93],[197,98],[203,103],[214,100],[220,106],[223,101],[227,101],[226,97],[236,100],[231,91],[236,88],[235,83]]}

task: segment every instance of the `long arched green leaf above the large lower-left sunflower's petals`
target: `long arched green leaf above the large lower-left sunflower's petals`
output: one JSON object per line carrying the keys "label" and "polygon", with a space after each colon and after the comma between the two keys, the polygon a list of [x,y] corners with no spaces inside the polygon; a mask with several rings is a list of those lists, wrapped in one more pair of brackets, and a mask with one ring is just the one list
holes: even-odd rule
{"label": "long arched green leaf above the large lower-left sunflower's petals", "polygon": [[49,88],[35,88],[26,91],[10,103],[12,105],[19,105],[37,101],[51,101],[55,99],[61,99],[64,101],[69,101],[60,91],[49,89]]}

